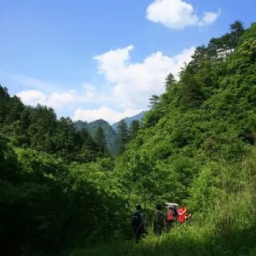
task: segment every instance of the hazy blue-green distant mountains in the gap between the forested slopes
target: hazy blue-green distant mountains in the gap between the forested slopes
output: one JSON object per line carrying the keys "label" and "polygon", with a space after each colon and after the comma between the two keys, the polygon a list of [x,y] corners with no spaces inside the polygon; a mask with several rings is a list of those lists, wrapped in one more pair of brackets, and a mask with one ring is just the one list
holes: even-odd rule
{"label": "hazy blue-green distant mountains in the gap between the forested slopes", "polygon": [[[144,114],[147,111],[142,111],[141,113],[137,113],[136,115],[132,117],[126,117],[125,122],[128,125],[131,125],[131,122],[133,120],[141,120],[143,119]],[[109,125],[109,123],[103,119],[96,119],[95,121],[92,121],[90,123],[86,121],[77,121],[73,123],[74,129],[76,131],[81,131],[83,129],[87,130],[90,133],[90,136],[94,139],[96,135],[96,130],[98,127],[102,127],[104,136],[107,141],[107,148],[108,151],[111,154],[116,153],[116,148],[118,144],[118,135],[117,135],[117,127],[119,125],[119,122],[114,123],[113,125]]]}

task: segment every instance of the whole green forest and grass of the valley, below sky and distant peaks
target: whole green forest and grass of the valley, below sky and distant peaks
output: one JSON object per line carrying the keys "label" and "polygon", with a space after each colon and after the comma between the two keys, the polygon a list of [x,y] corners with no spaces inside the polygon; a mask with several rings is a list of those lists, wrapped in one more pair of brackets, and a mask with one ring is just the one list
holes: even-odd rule
{"label": "whole green forest and grass of the valley, below sky and distant peaks", "polygon": [[[92,136],[2,85],[0,255],[256,255],[256,23],[198,46],[140,122],[120,120],[115,148],[104,127]],[[166,201],[193,218],[155,237]]]}

